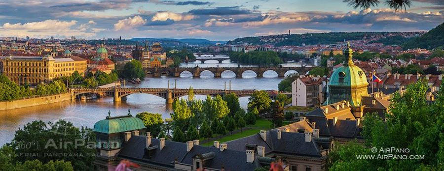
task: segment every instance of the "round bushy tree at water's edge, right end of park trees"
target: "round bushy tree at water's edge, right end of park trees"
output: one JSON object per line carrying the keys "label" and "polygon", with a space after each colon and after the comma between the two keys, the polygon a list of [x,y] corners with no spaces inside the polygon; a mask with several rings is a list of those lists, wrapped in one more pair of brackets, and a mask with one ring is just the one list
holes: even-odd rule
{"label": "round bushy tree at water's edge, right end of park trees", "polygon": [[248,100],[248,111],[257,109],[259,114],[262,115],[270,109],[271,99],[264,90],[255,91]]}

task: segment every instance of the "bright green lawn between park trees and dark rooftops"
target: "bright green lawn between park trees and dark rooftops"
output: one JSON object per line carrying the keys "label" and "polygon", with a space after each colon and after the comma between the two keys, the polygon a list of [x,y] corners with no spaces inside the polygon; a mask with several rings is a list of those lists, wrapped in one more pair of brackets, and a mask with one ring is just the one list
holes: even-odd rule
{"label": "bright green lawn between park trees and dark rooftops", "polygon": [[[289,122],[284,122],[284,125],[289,124]],[[246,129],[245,129],[246,128]],[[231,140],[236,140],[239,138],[243,138],[243,137],[248,137],[254,134],[259,133],[260,130],[269,130],[269,129],[273,129],[273,125],[272,122],[266,119],[258,119],[256,120],[256,124],[252,126],[252,129],[250,129],[250,125],[248,125],[247,127],[245,127],[242,132],[230,135],[230,133],[228,132],[228,134],[222,138],[219,138],[220,136],[217,136],[216,138],[218,138],[215,141],[218,141],[220,143],[223,142],[228,142]],[[206,140],[206,139],[201,139],[201,141]],[[213,141],[212,142],[207,142],[204,144],[201,144],[202,146],[211,146],[213,145]]]}

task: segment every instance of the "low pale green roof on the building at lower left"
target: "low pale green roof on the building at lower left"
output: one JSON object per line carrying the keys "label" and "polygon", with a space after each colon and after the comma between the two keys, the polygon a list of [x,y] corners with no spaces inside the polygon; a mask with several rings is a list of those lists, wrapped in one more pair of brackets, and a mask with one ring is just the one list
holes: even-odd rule
{"label": "low pale green roof on the building at lower left", "polygon": [[94,132],[105,134],[145,129],[144,121],[131,115],[107,117],[94,124]]}

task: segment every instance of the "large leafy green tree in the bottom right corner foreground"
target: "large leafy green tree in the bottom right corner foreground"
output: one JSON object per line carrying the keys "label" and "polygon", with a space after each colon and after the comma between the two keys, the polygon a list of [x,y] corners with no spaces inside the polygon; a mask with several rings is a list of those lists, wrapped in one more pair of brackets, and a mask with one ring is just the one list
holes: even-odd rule
{"label": "large leafy green tree in the bottom right corner foreground", "polygon": [[[364,146],[347,144],[332,153],[332,170],[443,170],[444,161],[444,85],[433,103],[427,102],[427,81],[407,86],[401,95],[393,94],[390,114],[383,121],[377,114],[363,120]],[[407,155],[424,155],[427,160],[358,160],[370,148],[409,149]],[[371,153],[378,155],[379,153]]]}

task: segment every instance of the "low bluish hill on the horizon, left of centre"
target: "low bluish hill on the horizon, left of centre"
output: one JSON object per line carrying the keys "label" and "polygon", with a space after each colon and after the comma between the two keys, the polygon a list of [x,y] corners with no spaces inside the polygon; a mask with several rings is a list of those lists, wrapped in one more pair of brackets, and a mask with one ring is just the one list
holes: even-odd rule
{"label": "low bluish hill on the horizon, left of centre", "polygon": [[225,43],[225,41],[210,41],[207,39],[173,39],[173,38],[132,38],[133,41],[160,42],[162,46],[166,47],[181,47],[181,46],[211,46],[216,43]]}

